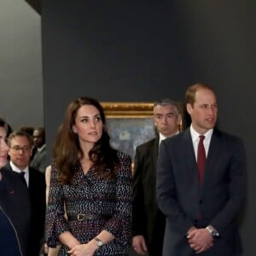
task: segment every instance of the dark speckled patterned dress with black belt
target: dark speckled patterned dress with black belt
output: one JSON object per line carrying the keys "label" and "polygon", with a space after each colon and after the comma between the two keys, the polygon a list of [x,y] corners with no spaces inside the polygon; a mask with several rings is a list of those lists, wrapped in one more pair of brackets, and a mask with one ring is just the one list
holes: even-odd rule
{"label": "dark speckled patterned dress with black belt", "polygon": [[[103,180],[98,177],[94,166],[84,174],[82,166],[76,166],[72,183],[61,185],[57,182],[57,170],[52,162],[49,188],[49,204],[46,214],[46,239],[49,247],[60,244],[58,236],[70,231],[81,243],[107,230],[115,238],[99,247],[94,255],[126,255],[131,245],[131,157],[118,153],[120,168],[115,178]],[[64,216],[79,213],[110,215],[107,219],[70,220]],[[68,247],[61,246],[58,255],[69,255]]]}

